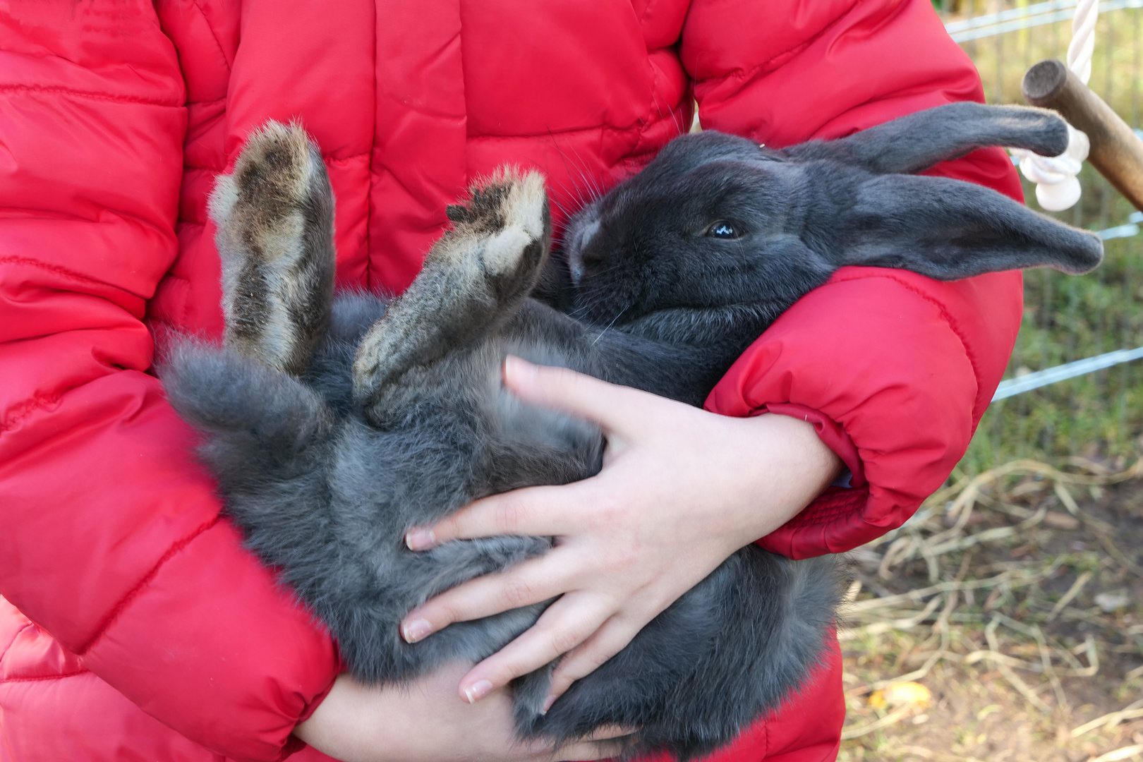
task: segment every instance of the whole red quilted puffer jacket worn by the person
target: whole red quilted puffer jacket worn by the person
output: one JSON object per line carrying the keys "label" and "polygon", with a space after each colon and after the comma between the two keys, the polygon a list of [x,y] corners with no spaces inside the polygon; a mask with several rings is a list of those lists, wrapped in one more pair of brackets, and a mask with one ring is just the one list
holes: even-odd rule
{"label": "whole red quilted puffer jacket worn by the person", "polygon": [[[928,0],[0,0],[0,760],[278,760],[338,671],[150,371],[158,329],[219,334],[205,200],[253,127],[303,121],[338,282],[399,290],[471,177],[535,166],[574,207],[692,96],[704,127],[781,146],[981,87]],[[1020,194],[998,150],[942,171]],[[814,420],[856,487],[764,545],[903,522],[967,447],[1020,295],[1017,273],[847,268],[778,320],[709,407]],[[833,759],[842,714],[834,652],[717,756]]]}

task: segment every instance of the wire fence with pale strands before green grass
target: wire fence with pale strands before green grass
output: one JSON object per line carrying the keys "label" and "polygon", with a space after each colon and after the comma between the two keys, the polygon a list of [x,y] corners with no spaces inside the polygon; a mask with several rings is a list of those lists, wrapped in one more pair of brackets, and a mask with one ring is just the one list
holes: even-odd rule
{"label": "wire fence with pale strands before green grass", "polygon": [[[1064,59],[1076,0],[934,5],[980,70],[988,101],[1023,103],[1024,72],[1044,58]],[[1089,87],[1138,131],[1143,0],[1104,0],[1100,11]],[[1143,448],[1143,353],[1128,354],[1143,347],[1143,215],[1090,167],[1080,183],[1080,202],[1054,216],[1100,231],[1106,260],[1082,278],[1025,274],[1024,322],[1006,382],[958,475],[1014,458],[1082,455],[1112,463]],[[1026,181],[1024,193],[1038,208]]]}

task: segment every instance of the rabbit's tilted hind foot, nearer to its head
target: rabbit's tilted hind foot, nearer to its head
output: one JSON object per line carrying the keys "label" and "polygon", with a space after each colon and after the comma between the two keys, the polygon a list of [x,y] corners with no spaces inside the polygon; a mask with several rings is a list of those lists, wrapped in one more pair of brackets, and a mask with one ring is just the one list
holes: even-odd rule
{"label": "rabbit's tilted hind foot, nearer to its head", "polygon": [[543,176],[501,169],[470,194],[448,208],[451,228],[358,346],[359,400],[376,401],[410,368],[474,344],[515,314],[535,286],[551,243]]}

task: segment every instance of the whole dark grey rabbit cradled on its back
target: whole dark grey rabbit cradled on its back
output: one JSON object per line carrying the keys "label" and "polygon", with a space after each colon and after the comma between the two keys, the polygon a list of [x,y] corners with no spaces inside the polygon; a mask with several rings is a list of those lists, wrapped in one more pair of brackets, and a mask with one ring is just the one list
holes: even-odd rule
{"label": "whole dark grey rabbit cradled on its back", "polygon": [[[451,227],[401,296],[334,296],[334,200],[298,127],[267,123],[218,178],[223,346],[184,342],[162,369],[205,433],[200,455],[249,547],[329,626],[352,673],[411,679],[478,660],[530,605],[408,644],[431,595],[543,554],[498,537],[413,553],[402,542],[474,498],[599,471],[600,431],[502,388],[507,353],[700,404],[784,310],[842,265],[952,280],[1095,267],[1100,240],[994,191],[913,176],[978,146],[1063,152],[1050,112],[959,103],[775,151],[702,133],[577,212],[549,256],[543,178],[503,170],[449,207]],[[573,316],[574,315],[574,316]],[[775,709],[834,624],[832,559],[736,552],[576,682],[546,714],[551,665],[517,681],[520,733],[604,724],[632,752],[710,752]]]}

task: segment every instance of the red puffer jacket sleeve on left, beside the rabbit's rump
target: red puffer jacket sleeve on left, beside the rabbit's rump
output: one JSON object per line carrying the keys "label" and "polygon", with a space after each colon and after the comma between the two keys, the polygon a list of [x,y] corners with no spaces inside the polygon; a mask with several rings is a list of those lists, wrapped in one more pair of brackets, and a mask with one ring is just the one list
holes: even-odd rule
{"label": "red puffer jacket sleeve on left, beside the rabbit's rump", "polygon": [[190,739],[280,759],[335,648],[219,519],[147,372],[145,302],[176,254],[175,49],[145,0],[3,8],[0,594]]}

